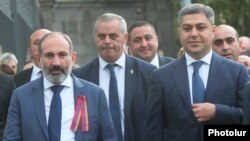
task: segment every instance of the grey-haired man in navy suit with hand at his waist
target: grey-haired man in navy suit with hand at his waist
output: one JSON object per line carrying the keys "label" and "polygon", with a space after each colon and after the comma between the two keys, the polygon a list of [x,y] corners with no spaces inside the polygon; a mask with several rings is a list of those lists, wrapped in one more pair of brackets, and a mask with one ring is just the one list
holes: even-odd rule
{"label": "grey-haired man in navy suit with hand at his waist", "polygon": [[[214,11],[190,4],[178,16],[185,54],[154,71],[145,141],[202,141],[204,124],[241,124],[247,69],[212,51]],[[165,134],[164,134],[165,133]]]}

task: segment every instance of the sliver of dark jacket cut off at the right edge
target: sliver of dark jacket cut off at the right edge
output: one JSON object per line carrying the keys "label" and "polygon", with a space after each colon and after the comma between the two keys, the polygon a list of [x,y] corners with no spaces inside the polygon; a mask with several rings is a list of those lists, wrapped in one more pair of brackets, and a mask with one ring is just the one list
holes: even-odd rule
{"label": "sliver of dark jacket cut off at the right edge", "polygon": [[250,124],[250,82],[244,88],[243,124]]}

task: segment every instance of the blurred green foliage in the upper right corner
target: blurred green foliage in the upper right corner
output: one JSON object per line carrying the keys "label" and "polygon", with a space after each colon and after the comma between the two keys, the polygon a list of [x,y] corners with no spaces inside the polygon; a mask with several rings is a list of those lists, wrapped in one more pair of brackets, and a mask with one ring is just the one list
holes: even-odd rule
{"label": "blurred green foliage in the upper right corner", "polygon": [[215,12],[215,24],[233,26],[239,35],[250,37],[250,0],[193,0],[211,6]]}

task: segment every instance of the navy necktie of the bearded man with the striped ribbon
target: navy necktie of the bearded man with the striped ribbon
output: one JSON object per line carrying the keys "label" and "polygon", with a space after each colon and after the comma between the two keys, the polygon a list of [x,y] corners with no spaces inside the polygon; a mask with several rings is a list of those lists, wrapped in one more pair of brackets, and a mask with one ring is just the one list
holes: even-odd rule
{"label": "navy necktie of the bearded man with the striped ribbon", "polygon": [[64,86],[55,85],[51,87],[53,91],[53,97],[50,104],[49,111],[49,141],[60,141],[61,137],[61,119],[62,119],[62,101],[60,97],[60,92]]}

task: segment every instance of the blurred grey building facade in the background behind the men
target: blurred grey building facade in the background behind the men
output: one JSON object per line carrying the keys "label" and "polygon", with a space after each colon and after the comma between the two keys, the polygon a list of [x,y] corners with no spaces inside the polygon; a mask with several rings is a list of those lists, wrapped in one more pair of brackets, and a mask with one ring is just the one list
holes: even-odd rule
{"label": "blurred grey building facade in the background behind the men", "polygon": [[172,0],[0,0],[0,45],[14,52],[23,65],[30,33],[39,27],[67,33],[73,40],[79,65],[97,56],[93,28],[96,18],[112,12],[128,27],[136,20],[151,22],[164,55],[176,57]]}

